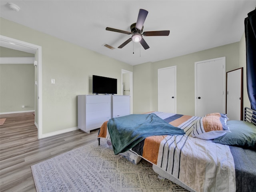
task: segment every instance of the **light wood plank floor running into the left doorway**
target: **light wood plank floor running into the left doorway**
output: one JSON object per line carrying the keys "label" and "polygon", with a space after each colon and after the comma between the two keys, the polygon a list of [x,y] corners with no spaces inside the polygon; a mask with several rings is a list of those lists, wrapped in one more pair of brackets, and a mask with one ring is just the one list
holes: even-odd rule
{"label": "light wood plank floor running into the left doorway", "polygon": [[96,140],[98,130],[37,138],[32,112],[1,115],[0,191],[35,192],[30,166]]}

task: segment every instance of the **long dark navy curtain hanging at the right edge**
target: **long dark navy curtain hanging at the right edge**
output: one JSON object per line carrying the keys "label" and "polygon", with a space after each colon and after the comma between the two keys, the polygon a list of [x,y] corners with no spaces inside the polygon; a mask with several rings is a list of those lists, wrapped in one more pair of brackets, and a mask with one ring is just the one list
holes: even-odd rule
{"label": "long dark navy curtain hanging at the right edge", "polygon": [[251,108],[256,110],[256,9],[244,20],[246,41],[247,92]]}

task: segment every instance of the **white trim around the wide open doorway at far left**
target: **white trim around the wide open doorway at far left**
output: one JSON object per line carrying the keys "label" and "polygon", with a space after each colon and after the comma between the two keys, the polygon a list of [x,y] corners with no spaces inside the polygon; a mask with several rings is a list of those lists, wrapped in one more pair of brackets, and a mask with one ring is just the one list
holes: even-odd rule
{"label": "white trim around the wide open doorway at far left", "polygon": [[[37,126],[38,126],[38,139],[40,139],[40,138],[42,138],[42,47],[35,45],[35,44],[28,43],[28,42],[13,39],[10,37],[2,36],[2,35],[0,35],[0,41],[16,44],[21,47],[24,46],[25,48],[35,49],[35,52],[37,52],[37,62],[38,62],[38,66],[37,66],[38,67],[38,80],[37,80],[38,119],[37,119]],[[36,100],[36,98],[35,98],[35,100]]]}

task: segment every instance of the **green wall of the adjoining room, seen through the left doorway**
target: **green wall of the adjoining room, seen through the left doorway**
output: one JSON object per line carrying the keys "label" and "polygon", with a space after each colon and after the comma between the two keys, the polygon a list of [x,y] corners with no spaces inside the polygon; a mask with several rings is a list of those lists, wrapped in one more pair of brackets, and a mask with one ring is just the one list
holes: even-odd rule
{"label": "green wall of the adjoining room, seen through the left doorway", "polygon": [[[0,47],[0,57],[34,57],[34,54]],[[35,110],[34,80],[33,64],[0,64],[0,113]]]}

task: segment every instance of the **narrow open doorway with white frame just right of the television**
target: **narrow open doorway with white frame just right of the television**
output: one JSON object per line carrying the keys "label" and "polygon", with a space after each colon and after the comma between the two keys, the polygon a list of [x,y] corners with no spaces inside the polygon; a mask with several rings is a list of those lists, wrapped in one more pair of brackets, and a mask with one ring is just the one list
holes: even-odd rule
{"label": "narrow open doorway with white frame just right of the television", "polygon": [[130,113],[133,113],[133,73],[122,69],[121,76],[122,95],[130,95]]}

